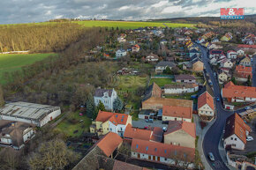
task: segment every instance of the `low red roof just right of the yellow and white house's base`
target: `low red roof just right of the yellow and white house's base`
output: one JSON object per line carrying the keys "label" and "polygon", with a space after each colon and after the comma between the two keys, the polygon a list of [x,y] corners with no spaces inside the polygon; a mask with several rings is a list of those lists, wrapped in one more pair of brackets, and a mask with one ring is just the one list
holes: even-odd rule
{"label": "low red roof just right of the yellow and white house's base", "polygon": [[124,138],[137,138],[141,140],[149,140],[151,134],[152,131],[149,129],[132,128],[132,125],[128,124],[124,131]]}

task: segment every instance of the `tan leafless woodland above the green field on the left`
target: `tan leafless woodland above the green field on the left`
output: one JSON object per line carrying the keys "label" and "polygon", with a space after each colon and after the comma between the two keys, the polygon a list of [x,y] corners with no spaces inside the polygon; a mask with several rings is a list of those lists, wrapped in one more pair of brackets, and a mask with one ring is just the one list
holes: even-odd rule
{"label": "tan leafless woodland above the green field on the left", "polygon": [[87,33],[76,23],[0,26],[0,52],[58,52]]}

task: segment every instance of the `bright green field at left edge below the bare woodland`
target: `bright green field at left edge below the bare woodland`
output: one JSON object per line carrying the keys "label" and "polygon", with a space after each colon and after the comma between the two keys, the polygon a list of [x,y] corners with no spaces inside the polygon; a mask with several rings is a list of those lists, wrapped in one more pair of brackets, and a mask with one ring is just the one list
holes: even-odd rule
{"label": "bright green field at left edge below the bare woodland", "polygon": [[0,55],[0,84],[4,84],[4,72],[20,70],[22,66],[40,61],[54,54],[8,54]]}

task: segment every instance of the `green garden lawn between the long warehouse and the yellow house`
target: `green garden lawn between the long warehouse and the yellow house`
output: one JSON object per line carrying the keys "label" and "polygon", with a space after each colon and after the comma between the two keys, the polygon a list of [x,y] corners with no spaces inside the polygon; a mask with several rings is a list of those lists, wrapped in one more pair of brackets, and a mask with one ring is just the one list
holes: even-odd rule
{"label": "green garden lawn between the long warehouse and the yellow house", "polygon": [[62,122],[57,124],[56,129],[64,132],[68,137],[79,137],[83,131],[88,132],[92,124],[86,115],[79,115],[79,112],[68,115]]}

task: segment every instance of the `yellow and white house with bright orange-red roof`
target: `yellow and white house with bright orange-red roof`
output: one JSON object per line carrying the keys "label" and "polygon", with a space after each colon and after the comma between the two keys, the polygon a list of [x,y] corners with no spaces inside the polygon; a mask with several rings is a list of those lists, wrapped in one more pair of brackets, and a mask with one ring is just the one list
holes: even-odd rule
{"label": "yellow and white house with bright orange-red roof", "polygon": [[91,133],[105,135],[112,131],[120,137],[124,136],[124,130],[128,124],[132,124],[132,116],[111,112],[99,111],[95,121],[90,126]]}

